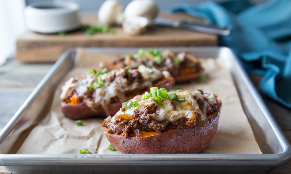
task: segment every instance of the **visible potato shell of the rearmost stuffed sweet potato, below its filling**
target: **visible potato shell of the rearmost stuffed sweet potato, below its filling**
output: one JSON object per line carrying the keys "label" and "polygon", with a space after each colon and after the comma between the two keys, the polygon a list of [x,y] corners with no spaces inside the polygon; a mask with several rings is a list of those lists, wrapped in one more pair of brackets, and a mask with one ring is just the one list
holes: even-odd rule
{"label": "visible potato shell of the rearmost stuffed sweet potato, below its filling", "polygon": [[[102,68],[107,68],[109,71],[112,69],[120,69],[122,67],[113,64],[112,62],[103,62]],[[182,69],[183,71],[184,69]],[[203,68],[200,69],[200,71],[196,73],[187,73],[187,72],[182,72],[183,75],[174,77],[176,83],[183,83],[183,82],[188,82],[189,80],[194,80],[201,76],[204,73]]]}

